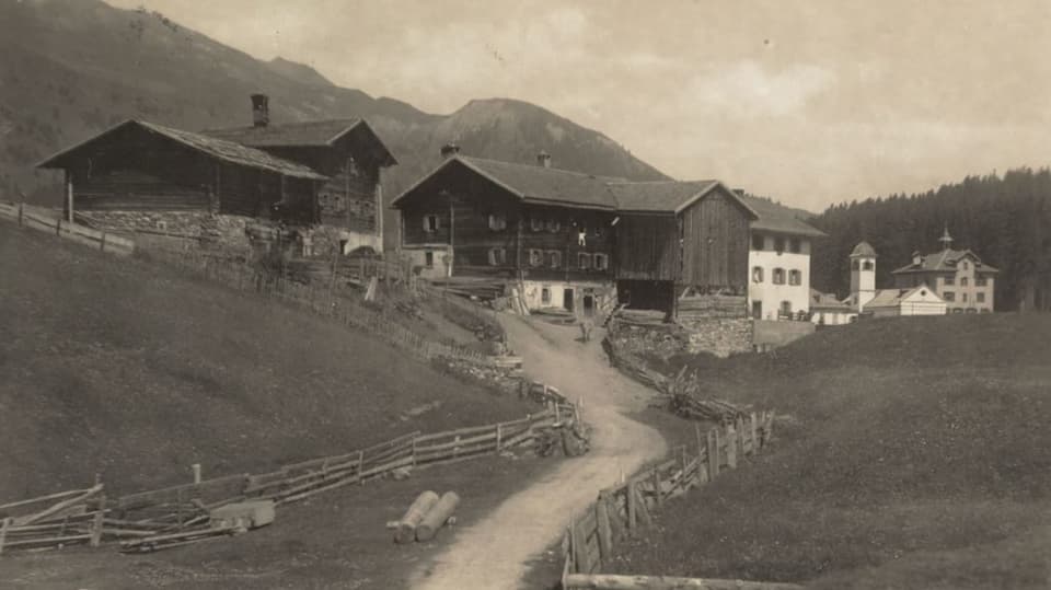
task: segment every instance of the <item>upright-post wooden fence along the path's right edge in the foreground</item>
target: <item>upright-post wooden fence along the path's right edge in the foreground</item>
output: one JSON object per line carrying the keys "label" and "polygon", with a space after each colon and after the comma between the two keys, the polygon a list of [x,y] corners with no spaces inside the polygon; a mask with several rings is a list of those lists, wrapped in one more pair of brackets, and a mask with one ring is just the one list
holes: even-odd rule
{"label": "upright-post wooden fence along the path's right edge in the foreground", "polygon": [[759,453],[769,443],[772,429],[771,413],[753,413],[747,420],[739,418],[706,435],[698,425],[696,449],[680,447],[663,463],[600,491],[598,500],[571,520],[563,539],[563,590],[608,588],[596,586],[594,575],[612,559],[617,542],[649,525],[665,502]]}

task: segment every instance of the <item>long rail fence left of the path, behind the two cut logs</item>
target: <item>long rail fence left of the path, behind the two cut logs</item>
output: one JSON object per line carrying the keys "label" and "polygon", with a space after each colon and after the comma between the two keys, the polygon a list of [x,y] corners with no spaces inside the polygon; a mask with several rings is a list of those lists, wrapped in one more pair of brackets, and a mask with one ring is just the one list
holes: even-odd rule
{"label": "long rail fence left of the path, behind the two cut logs", "polygon": [[411,432],[367,449],[239,473],[196,483],[106,498],[104,486],[0,505],[0,555],[11,549],[99,546],[152,551],[241,532],[217,528],[211,510],[239,501],[296,502],[348,485],[363,485],[399,470],[455,463],[533,443],[563,417],[580,419],[576,405],[543,386],[546,407],[524,418],[446,432]]}

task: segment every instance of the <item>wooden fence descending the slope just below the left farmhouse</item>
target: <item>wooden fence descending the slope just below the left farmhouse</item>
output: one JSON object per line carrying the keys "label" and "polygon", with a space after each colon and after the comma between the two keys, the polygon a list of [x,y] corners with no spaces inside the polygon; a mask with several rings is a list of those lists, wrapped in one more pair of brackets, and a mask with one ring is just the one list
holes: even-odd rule
{"label": "wooden fence descending the slope just below the left farmhouse", "polygon": [[314,313],[332,317],[344,325],[376,335],[400,346],[421,360],[454,358],[489,367],[521,365],[520,358],[508,359],[485,355],[466,346],[434,342],[397,323],[392,312],[374,310],[347,297],[335,286],[297,282],[267,277],[259,268],[232,261],[207,251],[150,251],[151,257],[200,274],[210,280],[275,299],[297,303]]}

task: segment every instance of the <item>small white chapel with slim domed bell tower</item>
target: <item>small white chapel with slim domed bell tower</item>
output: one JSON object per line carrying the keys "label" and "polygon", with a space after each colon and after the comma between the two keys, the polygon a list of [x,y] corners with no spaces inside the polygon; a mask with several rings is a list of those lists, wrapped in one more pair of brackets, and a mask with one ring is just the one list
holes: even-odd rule
{"label": "small white chapel with slim domed bell tower", "polygon": [[946,303],[925,282],[894,289],[876,288],[876,250],[861,242],[851,252],[851,294],[844,301],[855,314],[944,315]]}

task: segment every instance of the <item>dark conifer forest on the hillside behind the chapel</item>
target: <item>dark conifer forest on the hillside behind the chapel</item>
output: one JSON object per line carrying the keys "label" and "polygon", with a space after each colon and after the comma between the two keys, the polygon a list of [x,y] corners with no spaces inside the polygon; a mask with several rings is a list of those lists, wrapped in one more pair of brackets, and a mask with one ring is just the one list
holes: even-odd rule
{"label": "dark conifer forest on the hillside behind the chapel", "polygon": [[877,287],[891,287],[891,270],[908,264],[914,251],[938,251],[938,238],[948,224],[952,247],[970,248],[1001,269],[997,311],[1051,310],[1048,169],[969,176],[923,194],[835,205],[810,222],[829,234],[812,259],[812,284],[823,291],[847,294],[847,256],[862,240],[879,254]]}

